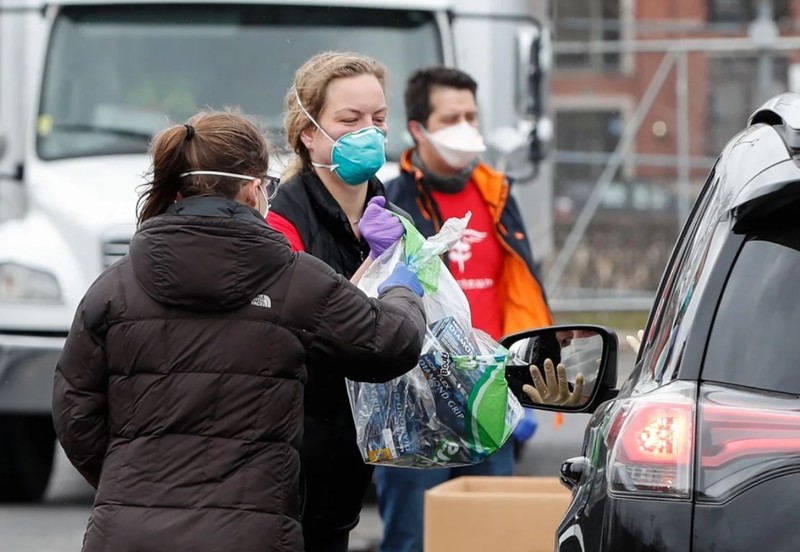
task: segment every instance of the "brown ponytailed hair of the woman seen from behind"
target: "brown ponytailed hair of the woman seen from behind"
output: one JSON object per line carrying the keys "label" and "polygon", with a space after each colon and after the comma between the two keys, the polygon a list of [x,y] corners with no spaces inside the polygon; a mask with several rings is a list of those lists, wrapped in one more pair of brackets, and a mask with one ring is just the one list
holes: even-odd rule
{"label": "brown ponytailed hair of the woman seen from behind", "polygon": [[156,134],[150,146],[153,165],[139,196],[139,224],[163,214],[178,197],[198,195],[233,199],[246,181],[190,171],[221,171],[260,177],[269,167],[269,144],[250,117],[231,111],[203,111],[182,125]]}

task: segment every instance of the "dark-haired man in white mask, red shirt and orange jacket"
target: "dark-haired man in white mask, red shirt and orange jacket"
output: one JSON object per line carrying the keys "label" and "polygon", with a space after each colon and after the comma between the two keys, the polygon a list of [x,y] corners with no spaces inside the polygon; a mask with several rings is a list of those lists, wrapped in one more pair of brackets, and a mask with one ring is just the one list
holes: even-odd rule
{"label": "dark-haired man in white mask, red shirt and orange jacket", "polygon": [[[447,262],[464,290],[473,326],[495,339],[549,326],[553,317],[530,243],[506,176],[479,160],[477,83],[447,67],[417,71],[405,91],[408,131],[415,147],[401,174],[386,184],[387,199],[414,219],[426,237],[451,217],[471,218]],[[522,435],[530,420],[518,426]],[[463,468],[378,467],[375,482],[384,523],[380,552],[421,552],[426,489],[460,475],[512,475],[513,440],[486,461]]]}

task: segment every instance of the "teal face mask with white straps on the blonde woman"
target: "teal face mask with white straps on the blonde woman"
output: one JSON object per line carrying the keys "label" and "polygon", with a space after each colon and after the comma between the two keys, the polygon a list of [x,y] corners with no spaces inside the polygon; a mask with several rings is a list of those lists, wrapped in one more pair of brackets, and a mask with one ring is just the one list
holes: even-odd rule
{"label": "teal face mask with white straps on the blonde woman", "polygon": [[325,138],[331,141],[331,163],[311,164],[318,168],[328,169],[338,176],[342,182],[351,186],[363,184],[375,176],[386,163],[386,133],[376,126],[369,126],[348,132],[334,140],[306,111],[295,90],[297,105],[303,110],[308,120],[314,123]]}

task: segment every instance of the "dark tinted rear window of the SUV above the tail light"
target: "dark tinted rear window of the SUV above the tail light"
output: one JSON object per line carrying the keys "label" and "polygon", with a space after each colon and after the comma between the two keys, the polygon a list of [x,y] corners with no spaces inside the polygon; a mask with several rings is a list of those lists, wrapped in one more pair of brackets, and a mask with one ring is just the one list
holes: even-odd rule
{"label": "dark tinted rear window of the SUV above the tail light", "polygon": [[800,210],[751,229],[709,339],[703,379],[800,395]]}

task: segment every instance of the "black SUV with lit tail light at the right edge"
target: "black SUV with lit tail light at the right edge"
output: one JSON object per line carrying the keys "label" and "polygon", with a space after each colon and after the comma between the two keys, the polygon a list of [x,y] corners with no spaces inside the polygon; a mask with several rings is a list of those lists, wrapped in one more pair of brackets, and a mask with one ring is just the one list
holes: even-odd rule
{"label": "black SUV with lit tail light at the right edge", "polygon": [[602,333],[593,395],[537,406],[594,412],[556,550],[800,550],[800,95],[717,160],[618,390]]}

